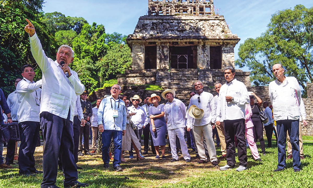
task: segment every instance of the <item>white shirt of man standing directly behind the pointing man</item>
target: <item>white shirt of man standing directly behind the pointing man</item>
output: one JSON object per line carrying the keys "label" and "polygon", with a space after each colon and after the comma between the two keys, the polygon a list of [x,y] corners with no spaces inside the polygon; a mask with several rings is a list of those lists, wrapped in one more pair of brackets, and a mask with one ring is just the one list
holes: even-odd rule
{"label": "white shirt of man standing directly behind the pointing man", "polygon": [[[40,122],[39,119],[39,101],[41,95],[42,80],[31,82],[23,78],[16,86],[17,97],[19,102],[18,122],[34,121]],[[37,102],[36,102],[37,98]]]}

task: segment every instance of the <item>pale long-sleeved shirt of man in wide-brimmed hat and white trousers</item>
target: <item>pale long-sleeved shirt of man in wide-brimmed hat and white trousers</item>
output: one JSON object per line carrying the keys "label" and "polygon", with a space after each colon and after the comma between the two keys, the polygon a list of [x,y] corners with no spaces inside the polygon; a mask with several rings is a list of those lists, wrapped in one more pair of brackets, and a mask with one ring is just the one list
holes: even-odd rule
{"label": "pale long-sleeved shirt of man in wide-brimmed hat and white trousers", "polygon": [[167,130],[185,128],[186,106],[181,100],[174,98],[172,102],[167,101],[164,112]]}

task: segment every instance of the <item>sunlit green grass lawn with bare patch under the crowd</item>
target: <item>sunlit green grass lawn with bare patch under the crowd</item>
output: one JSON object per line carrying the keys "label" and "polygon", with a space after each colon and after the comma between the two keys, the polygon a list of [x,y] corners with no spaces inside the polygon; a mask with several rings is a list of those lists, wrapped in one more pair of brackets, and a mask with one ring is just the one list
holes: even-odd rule
{"label": "sunlit green grass lawn with bare patch under the crowd", "polygon": [[[313,137],[304,137],[304,140],[313,140]],[[265,141],[267,142],[267,141]],[[273,140],[275,145],[275,140]],[[259,143],[258,148],[259,148]],[[267,143],[265,143],[266,145]],[[90,188],[99,187],[313,187],[313,142],[306,141],[303,145],[305,159],[301,160],[302,170],[295,173],[292,168],[292,159],[286,160],[286,169],[282,172],[273,172],[277,168],[277,147],[266,148],[266,156],[261,155],[262,163],[253,160],[250,149],[247,149],[248,170],[236,172],[235,169],[220,171],[211,163],[197,164],[195,154],[191,153],[191,163],[182,160],[170,163],[171,154],[166,154],[167,160],[155,160],[150,153],[146,159],[136,161],[125,156],[126,163],[122,163],[123,172],[116,172],[112,168],[104,169],[101,155],[79,157],[78,170],[80,182],[90,184]],[[6,153],[4,149],[3,154]],[[127,152],[126,152],[127,153]],[[259,153],[261,150],[259,149]],[[42,170],[42,146],[35,152],[36,165]],[[217,155],[221,151],[217,148]],[[238,162],[238,159],[237,159]],[[219,159],[219,166],[226,165],[226,160]],[[238,163],[236,164],[238,165]],[[15,169],[0,170],[0,187],[14,188],[39,188],[41,175],[35,177],[18,176],[18,165]],[[63,187],[63,175],[58,171],[57,183]]]}

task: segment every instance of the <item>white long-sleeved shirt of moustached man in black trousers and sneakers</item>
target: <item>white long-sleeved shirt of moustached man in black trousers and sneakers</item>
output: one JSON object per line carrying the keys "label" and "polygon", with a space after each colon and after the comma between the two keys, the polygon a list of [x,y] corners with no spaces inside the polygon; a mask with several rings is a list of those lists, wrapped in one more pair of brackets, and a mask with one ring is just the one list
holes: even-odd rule
{"label": "white long-sleeved shirt of moustached man in black trousers and sneakers", "polygon": [[[226,96],[233,97],[232,102],[226,102]],[[233,79],[226,81],[219,90],[220,106],[216,121],[245,119],[245,105],[249,104],[250,98],[246,86],[241,81]]]}

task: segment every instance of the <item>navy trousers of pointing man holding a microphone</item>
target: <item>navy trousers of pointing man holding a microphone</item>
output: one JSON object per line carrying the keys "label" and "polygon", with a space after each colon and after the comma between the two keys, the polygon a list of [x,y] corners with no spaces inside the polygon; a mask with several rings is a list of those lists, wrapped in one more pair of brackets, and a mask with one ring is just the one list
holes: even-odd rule
{"label": "navy trousers of pointing man holding a microphone", "polygon": [[59,152],[63,167],[64,184],[77,180],[74,159],[73,123],[49,112],[40,114],[40,123],[45,140],[43,153],[43,180],[41,187],[55,185],[58,172]]}

